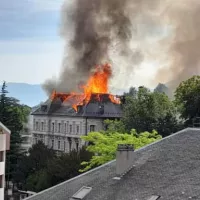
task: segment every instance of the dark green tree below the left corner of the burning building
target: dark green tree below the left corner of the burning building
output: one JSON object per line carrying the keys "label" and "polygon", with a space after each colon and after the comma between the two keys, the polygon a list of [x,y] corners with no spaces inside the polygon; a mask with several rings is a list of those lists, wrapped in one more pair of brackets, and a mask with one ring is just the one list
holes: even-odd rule
{"label": "dark green tree below the left corner of the burning building", "polygon": [[47,165],[56,157],[55,152],[41,141],[33,145],[28,155],[18,159],[13,179],[18,188],[35,192],[51,186],[51,177],[47,173]]}

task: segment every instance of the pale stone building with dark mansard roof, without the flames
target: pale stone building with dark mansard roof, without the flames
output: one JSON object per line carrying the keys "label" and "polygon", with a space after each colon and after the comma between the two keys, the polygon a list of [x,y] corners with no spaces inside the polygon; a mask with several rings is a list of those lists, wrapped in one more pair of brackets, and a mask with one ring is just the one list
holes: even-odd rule
{"label": "pale stone building with dark mansard roof, without the flames", "polygon": [[101,102],[93,101],[79,106],[77,112],[61,99],[48,100],[32,115],[33,144],[41,140],[49,148],[69,152],[84,145],[80,136],[103,130],[105,119],[121,118],[122,109],[120,104],[112,103],[104,95]]}

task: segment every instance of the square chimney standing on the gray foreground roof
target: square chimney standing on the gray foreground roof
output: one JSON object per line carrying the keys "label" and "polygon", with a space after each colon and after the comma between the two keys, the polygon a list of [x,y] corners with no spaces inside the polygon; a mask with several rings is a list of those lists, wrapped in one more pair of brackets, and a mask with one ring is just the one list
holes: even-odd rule
{"label": "square chimney standing on the gray foreground roof", "polygon": [[134,148],[132,144],[118,144],[116,155],[116,173],[124,175],[133,166]]}

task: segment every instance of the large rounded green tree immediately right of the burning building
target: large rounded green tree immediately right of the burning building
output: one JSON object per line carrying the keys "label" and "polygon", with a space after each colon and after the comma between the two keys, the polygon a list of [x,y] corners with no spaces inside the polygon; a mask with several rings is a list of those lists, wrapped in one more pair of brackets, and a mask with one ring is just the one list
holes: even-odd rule
{"label": "large rounded green tree immediately right of the burning building", "polygon": [[127,96],[123,106],[123,123],[127,130],[157,130],[162,136],[179,130],[177,110],[167,95],[139,87],[135,96]]}

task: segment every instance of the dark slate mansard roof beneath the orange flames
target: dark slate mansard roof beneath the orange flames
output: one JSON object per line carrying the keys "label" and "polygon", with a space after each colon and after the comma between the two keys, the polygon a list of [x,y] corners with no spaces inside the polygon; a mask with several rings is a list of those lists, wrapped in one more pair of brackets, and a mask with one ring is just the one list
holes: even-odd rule
{"label": "dark slate mansard roof beneath the orange flames", "polygon": [[99,118],[121,118],[122,105],[111,102],[107,95],[102,95],[101,100],[95,98],[83,105],[78,106],[76,112],[71,105],[62,102],[61,99],[47,100],[32,115],[74,116],[74,117],[99,117]]}

